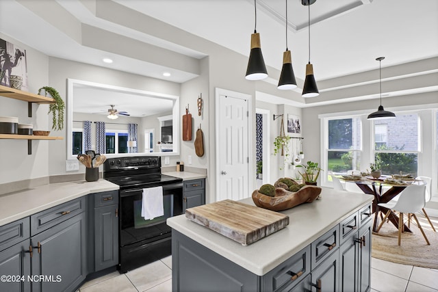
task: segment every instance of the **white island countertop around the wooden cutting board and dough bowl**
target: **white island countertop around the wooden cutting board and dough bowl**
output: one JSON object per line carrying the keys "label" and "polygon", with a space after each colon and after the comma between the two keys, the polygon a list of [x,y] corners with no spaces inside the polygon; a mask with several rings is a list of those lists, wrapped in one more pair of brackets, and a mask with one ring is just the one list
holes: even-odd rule
{"label": "white island countertop around the wooden cutting board and dough bowl", "polygon": [[[188,220],[185,215],[168,218],[167,224],[233,263],[263,276],[374,198],[326,188],[322,189],[321,196],[322,199],[310,204],[281,211],[289,215],[289,225],[246,246]],[[242,202],[254,205],[252,198]]]}

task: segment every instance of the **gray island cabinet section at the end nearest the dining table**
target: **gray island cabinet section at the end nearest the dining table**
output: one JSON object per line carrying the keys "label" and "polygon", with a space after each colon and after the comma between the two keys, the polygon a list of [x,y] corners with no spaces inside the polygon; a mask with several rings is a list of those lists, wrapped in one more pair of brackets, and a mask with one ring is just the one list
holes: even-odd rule
{"label": "gray island cabinet section at the end nearest the dining table", "polygon": [[[339,249],[340,291],[362,292],[371,289],[371,220],[369,215],[363,215],[369,209],[370,206],[367,206],[341,223],[341,226],[354,226],[347,228],[354,232],[349,231]],[[353,217],[359,220],[355,220],[354,224],[346,223],[352,222]]]}

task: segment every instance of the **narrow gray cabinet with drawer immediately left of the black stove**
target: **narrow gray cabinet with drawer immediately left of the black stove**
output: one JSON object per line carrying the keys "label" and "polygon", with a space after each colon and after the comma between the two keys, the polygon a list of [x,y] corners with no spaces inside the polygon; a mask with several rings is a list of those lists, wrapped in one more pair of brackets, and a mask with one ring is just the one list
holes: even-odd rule
{"label": "narrow gray cabinet with drawer immediately left of the black stove", "polygon": [[88,198],[88,269],[93,272],[118,265],[118,191],[90,194]]}

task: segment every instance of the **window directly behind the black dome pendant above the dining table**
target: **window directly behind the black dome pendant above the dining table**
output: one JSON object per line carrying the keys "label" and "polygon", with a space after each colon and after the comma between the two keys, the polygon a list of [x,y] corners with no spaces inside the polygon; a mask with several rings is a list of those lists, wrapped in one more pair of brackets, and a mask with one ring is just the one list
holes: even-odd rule
{"label": "window directly behind the black dome pendant above the dining table", "polygon": [[[374,121],[374,160],[381,164],[382,174],[417,176],[419,124],[417,114],[397,114],[395,119]],[[386,142],[382,143],[385,128]]]}

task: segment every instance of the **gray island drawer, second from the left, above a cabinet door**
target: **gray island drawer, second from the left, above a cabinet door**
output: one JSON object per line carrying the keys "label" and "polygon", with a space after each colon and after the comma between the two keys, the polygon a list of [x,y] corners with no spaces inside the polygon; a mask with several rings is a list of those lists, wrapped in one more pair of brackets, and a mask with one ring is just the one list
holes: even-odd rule
{"label": "gray island drawer, second from the left, above a cabinet door", "polygon": [[339,247],[339,224],[331,228],[311,243],[311,269],[315,269],[324,259]]}

